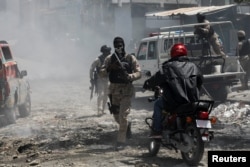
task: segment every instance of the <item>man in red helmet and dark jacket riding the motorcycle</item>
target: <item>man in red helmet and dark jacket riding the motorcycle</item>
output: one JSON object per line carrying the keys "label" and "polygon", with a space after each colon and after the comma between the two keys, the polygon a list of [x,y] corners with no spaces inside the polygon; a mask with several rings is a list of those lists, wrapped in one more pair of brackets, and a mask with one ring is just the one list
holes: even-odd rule
{"label": "man in red helmet and dark jacket riding the motorcycle", "polygon": [[203,83],[200,69],[189,61],[186,47],[177,43],[171,48],[171,59],[162,64],[162,69],[145,81],[143,88],[148,90],[160,86],[162,96],[155,101],[153,131],[151,137],[161,137],[162,111],[174,111],[178,106],[199,100]]}

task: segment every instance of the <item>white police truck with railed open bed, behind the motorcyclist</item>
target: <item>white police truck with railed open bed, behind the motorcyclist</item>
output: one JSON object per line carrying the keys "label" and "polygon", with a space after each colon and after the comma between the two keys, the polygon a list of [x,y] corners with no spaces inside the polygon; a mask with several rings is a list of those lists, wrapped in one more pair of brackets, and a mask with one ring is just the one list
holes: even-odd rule
{"label": "white police truck with railed open bed, behind the motorcyclist", "polygon": [[209,24],[220,37],[223,44],[221,49],[227,54],[226,59],[216,55],[207,41],[200,40],[193,33],[194,26],[204,25],[203,23],[163,27],[160,28],[161,31],[140,41],[136,57],[142,69],[142,78],[135,85],[142,87],[148,74],[153,75],[164,61],[170,59],[171,46],[181,42],[186,45],[189,58],[201,68],[206,91],[214,100],[226,100],[228,87],[237,83],[245,74],[236,53],[237,31],[230,21]]}

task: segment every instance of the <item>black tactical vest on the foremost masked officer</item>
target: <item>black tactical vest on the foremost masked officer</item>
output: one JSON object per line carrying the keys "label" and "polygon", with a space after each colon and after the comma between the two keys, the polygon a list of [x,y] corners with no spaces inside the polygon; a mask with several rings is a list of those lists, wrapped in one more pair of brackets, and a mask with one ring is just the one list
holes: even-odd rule
{"label": "black tactical vest on the foremost masked officer", "polygon": [[117,68],[112,68],[109,72],[109,81],[111,83],[128,83],[126,74],[132,73],[132,57],[131,55],[126,55],[124,58],[120,59],[121,64],[124,68],[121,68],[116,56],[113,54],[111,56],[111,65],[116,65]]}

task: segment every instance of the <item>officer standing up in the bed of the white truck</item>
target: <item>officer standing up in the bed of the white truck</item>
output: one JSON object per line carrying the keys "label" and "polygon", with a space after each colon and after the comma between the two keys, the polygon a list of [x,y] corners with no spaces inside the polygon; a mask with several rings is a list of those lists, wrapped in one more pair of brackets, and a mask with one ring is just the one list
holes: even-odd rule
{"label": "officer standing up in the bed of the white truck", "polygon": [[[196,18],[198,23],[209,23],[209,21],[206,20],[205,15],[201,13],[197,13]],[[223,47],[219,40],[219,36],[214,31],[211,25],[206,24],[195,26],[194,34],[197,34],[200,39],[206,39],[208,43],[213,47],[213,50],[217,55],[222,56],[223,58],[226,57],[226,54],[222,51]]]}

